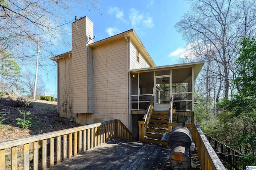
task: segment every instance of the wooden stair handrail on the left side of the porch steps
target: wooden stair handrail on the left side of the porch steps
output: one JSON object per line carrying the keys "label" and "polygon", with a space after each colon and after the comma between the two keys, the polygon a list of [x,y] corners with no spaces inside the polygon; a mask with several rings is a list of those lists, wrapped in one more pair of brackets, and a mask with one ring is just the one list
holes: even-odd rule
{"label": "wooden stair handrail on the left side of the porch steps", "polygon": [[146,110],[146,113],[144,115],[143,121],[138,121],[138,126],[139,126],[139,141],[144,140],[144,136],[147,131],[147,127],[150,121],[150,117],[152,115],[152,111],[154,108],[154,96],[151,97],[150,102],[148,104],[148,108]]}

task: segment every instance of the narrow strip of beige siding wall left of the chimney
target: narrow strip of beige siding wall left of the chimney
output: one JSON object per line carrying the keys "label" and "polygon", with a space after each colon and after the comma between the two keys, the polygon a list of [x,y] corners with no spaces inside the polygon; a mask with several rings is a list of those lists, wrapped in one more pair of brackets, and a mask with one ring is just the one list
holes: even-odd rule
{"label": "narrow strip of beige siding wall left of the chimney", "polygon": [[60,117],[71,117],[73,104],[72,58],[58,60],[58,107]]}

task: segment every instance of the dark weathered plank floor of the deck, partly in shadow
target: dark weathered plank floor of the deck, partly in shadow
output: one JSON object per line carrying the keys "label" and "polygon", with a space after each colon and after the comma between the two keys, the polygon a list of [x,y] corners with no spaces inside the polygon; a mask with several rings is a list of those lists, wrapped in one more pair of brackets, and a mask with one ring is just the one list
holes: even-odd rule
{"label": "dark weathered plank floor of the deck, partly in shadow", "polygon": [[82,152],[48,170],[157,170],[170,169],[168,146],[115,138]]}

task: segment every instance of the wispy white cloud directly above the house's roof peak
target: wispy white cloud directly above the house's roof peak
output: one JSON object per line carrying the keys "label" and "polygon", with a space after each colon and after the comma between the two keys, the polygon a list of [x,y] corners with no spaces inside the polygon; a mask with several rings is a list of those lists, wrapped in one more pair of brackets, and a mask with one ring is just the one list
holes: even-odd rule
{"label": "wispy white cloud directly above the house's roof peak", "polygon": [[140,13],[134,8],[130,9],[129,20],[134,28],[141,26],[152,28],[154,26],[153,18],[149,14]]}

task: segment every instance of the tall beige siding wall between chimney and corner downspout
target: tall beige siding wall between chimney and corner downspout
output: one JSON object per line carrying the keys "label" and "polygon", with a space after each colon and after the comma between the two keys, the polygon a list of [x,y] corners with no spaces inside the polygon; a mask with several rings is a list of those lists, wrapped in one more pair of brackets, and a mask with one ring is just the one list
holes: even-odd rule
{"label": "tall beige siding wall between chimney and corner downspout", "polygon": [[120,119],[128,125],[126,41],[96,47],[94,55],[93,123]]}

